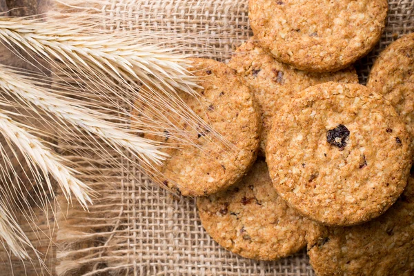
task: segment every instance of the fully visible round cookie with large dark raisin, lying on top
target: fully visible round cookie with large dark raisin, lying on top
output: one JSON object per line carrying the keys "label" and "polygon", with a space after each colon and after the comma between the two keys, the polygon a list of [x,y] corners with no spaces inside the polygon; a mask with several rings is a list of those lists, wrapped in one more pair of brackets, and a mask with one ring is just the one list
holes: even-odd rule
{"label": "fully visible round cookie with large dark raisin, lying on top", "polygon": [[381,95],[354,83],[299,92],[276,114],[266,161],[277,193],[330,226],[373,219],[400,196],[411,167],[408,132]]}

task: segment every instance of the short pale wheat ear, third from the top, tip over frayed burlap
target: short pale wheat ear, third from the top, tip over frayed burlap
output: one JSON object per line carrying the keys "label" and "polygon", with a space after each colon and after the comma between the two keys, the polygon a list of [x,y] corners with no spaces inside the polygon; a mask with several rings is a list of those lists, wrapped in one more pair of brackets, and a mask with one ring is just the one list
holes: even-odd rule
{"label": "short pale wheat ear, third from the top, tip over frayed burlap", "polygon": [[52,194],[53,189],[48,174],[55,178],[68,201],[71,200],[73,194],[83,208],[87,208],[87,201],[92,204],[88,195],[90,188],[73,176],[75,171],[62,165],[63,159],[61,157],[50,152],[37,137],[30,134],[23,126],[19,126],[3,112],[0,112],[0,132],[6,141],[12,142],[19,148],[30,164],[36,164],[41,169]]}

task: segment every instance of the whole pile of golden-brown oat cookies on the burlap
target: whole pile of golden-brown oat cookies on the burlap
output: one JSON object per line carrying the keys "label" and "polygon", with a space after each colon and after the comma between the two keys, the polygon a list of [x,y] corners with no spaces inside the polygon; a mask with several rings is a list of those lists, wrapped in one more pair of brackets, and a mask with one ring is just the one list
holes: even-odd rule
{"label": "whole pile of golden-brown oat cookies on the burlap", "polygon": [[[250,0],[255,37],[228,66],[193,60],[204,89],[181,97],[222,139],[177,119],[197,142],[166,149],[153,177],[199,196],[221,246],[258,260],[307,246],[317,275],[414,275],[414,34],[382,52],[366,86],[352,67],[387,9]],[[177,143],[166,133],[146,137]]]}

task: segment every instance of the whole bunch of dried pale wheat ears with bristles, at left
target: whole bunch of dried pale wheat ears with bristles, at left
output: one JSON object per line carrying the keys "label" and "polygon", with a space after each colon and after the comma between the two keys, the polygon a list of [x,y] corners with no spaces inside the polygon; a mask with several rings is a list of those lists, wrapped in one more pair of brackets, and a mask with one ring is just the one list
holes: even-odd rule
{"label": "whole bunch of dried pale wheat ears with bristles, at left", "polygon": [[[184,50],[180,41],[185,37],[172,39],[155,31],[114,33],[100,28],[100,20],[82,12],[23,19],[0,17],[0,43],[43,72],[0,64],[0,134],[12,149],[0,147],[1,165],[8,167],[0,168],[1,181],[7,187],[1,188],[0,242],[22,259],[28,258],[28,247],[35,249],[13,215],[16,208],[29,207],[27,200],[23,199],[23,207],[10,204],[14,201],[10,191],[19,193],[25,186],[16,166],[28,170],[32,186],[46,182],[53,200],[52,179],[69,202],[75,197],[83,208],[92,204],[92,195],[99,196],[88,185],[92,181],[88,179],[99,175],[83,175],[71,168],[70,162],[52,149],[59,146],[44,137],[59,137],[83,148],[75,154],[83,158],[86,166],[95,166],[92,157],[83,156],[92,151],[100,159],[124,158],[145,170],[168,156],[160,150],[162,143],[141,137],[144,130],[139,126],[150,126],[155,135],[168,131],[175,135],[177,146],[193,143],[193,139],[176,121],[165,117],[165,110],[174,112],[190,129],[210,128],[177,94],[181,90],[196,97],[195,88],[199,87],[197,79],[188,72],[190,61],[178,54]],[[166,43],[159,42],[163,36]],[[157,37],[157,43],[151,43],[152,37]],[[160,120],[134,110],[137,130],[131,130],[130,114],[135,103],[159,112]],[[40,122],[42,130],[30,125],[30,119]],[[215,137],[221,139],[217,133]],[[111,148],[110,152],[106,146]],[[12,161],[19,160],[19,156],[23,156],[20,160],[24,164]],[[120,161],[108,163],[123,166]],[[37,196],[41,197],[45,211],[52,206],[48,197]]]}

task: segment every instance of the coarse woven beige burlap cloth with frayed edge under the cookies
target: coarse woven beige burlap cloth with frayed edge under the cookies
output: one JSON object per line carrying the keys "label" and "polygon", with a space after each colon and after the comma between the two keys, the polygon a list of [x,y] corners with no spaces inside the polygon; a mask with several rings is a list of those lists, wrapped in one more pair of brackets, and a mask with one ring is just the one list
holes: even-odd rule
{"label": "coarse woven beige burlap cloth with frayed edge under the cookies", "polygon": [[[103,22],[106,28],[114,30],[156,28],[166,33],[191,34],[190,54],[226,62],[233,50],[252,35],[247,2],[108,0],[99,12],[106,14]],[[88,1],[77,3],[96,7]],[[414,1],[390,0],[388,3],[388,23],[380,43],[355,65],[361,83],[366,82],[377,54],[402,34],[414,30]],[[115,15],[127,14],[129,19],[114,19]],[[76,151],[70,144],[65,141],[59,144],[68,149],[67,155],[72,161],[78,162],[77,169],[93,170],[86,168],[75,154],[70,154]],[[64,206],[59,211],[57,235],[50,235],[55,248],[46,257],[53,274],[314,275],[305,250],[277,262],[257,262],[228,252],[201,227],[195,199],[176,197],[162,190],[128,163],[124,164],[126,170],[116,170],[108,168],[104,160],[96,162],[107,169],[101,170],[103,175],[91,184],[100,195],[89,213],[76,204],[67,213]],[[33,240],[36,244],[42,242]],[[7,274],[11,271],[10,262],[3,255]],[[32,266],[30,262],[24,264]],[[18,268],[14,269],[17,275],[23,273],[23,264],[13,259],[11,265]],[[28,271],[34,275],[33,269]],[[38,272],[41,274],[39,269]]]}

